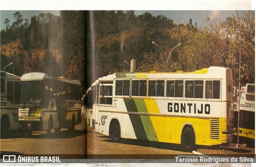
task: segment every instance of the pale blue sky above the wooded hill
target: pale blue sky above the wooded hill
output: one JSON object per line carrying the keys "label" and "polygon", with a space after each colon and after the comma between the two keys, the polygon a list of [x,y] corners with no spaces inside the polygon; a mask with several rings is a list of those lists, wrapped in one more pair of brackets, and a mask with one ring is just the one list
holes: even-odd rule
{"label": "pale blue sky above the wooded hill", "polygon": [[[60,10],[1,10],[0,11],[0,26],[1,30],[5,28],[4,20],[8,18],[10,25],[14,22],[13,14],[16,11],[20,11],[23,18],[31,20],[31,17],[38,16],[40,13],[52,13],[54,15],[60,15]],[[224,21],[226,17],[236,15],[234,10],[135,10],[134,13],[144,14],[145,12],[151,13],[153,16],[164,15],[167,18],[174,20],[176,24],[187,24],[189,19],[192,19],[192,24],[197,23],[199,27],[205,26],[205,20],[207,17],[211,19],[217,19]]]}

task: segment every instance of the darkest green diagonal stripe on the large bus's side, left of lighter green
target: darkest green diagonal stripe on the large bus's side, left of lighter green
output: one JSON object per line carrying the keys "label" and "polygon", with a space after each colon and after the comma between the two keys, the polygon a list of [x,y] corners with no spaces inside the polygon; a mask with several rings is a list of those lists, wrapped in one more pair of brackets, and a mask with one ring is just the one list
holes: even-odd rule
{"label": "darkest green diagonal stripe on the large bus's side, left of lighter green", "polygon": [[[124,99],[128,112],[138,112],[134,99]],[[140,115],[128,114],[137,139],[148,140]]]}

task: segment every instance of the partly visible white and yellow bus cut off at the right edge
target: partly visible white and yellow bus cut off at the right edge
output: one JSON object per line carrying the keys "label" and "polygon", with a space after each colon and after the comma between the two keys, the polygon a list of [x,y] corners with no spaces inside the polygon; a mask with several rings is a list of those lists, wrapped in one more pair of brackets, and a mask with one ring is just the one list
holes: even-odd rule
{"label": "partly visible white and yellow bus cut off at the right edge", "polygon": [[239,110],[239,138],[255,142],[255,84],[241,87]]}

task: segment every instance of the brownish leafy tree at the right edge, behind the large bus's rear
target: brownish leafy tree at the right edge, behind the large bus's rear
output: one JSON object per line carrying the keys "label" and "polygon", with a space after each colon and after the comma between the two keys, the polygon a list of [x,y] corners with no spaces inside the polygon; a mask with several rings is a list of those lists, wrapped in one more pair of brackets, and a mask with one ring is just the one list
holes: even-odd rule
{"label": "brownish leafy tree at the right edge, behind the large bus's rear", "polygon": [[[230,37],[230,50],[227,64],[232,68],[234,80],[239,82],[239,70],[241,82],[255,82],[255,12],[237,12],[237,16],[226,19],[223,23],[228,26]],[[233,38],[231,38],[233,37]],[[241,67],[239,60],[241,55]]]}

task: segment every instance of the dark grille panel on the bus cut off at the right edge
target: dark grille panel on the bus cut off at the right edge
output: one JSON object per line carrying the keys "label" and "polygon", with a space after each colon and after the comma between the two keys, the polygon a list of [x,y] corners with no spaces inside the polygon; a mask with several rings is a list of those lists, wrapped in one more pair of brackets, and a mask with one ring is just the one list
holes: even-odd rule
{"label": "dark grille panel on the bus cut off at the right edge", "polygon": [[240,110],[239,127],[255,129],[255,112]]}

